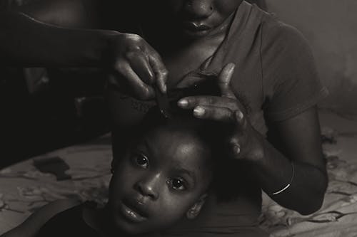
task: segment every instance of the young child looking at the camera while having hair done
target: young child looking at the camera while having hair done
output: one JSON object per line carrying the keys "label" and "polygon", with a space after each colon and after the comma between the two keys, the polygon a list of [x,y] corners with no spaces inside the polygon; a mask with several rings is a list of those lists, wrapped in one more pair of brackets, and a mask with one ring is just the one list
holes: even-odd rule
{"label": "young child looking at the camera while having hair done", "polygon": [[3,237],[152,234],[181,218],[195,218],[221,159],[213,146],[218,137],[208,135],[212,122],[187,115],[166,120],[159,110],[151,111],[128,137],[124,156],[113,162],[109,202],[103,209],[57,201]]}

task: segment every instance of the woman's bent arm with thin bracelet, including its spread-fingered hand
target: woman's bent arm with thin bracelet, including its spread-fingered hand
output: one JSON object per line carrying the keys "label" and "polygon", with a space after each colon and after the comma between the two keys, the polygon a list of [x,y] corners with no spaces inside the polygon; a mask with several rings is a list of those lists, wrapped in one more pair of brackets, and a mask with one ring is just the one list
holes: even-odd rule
{"label": "woman's bent arm with thin bracelet, including its spread-fingered hand", "polygon": [[[230,88],[233,69],[228,64],[218,76],[222,97],[183,98],[178,106],[194,109],[198,118],[231,124],[228,147],[233,159],[247,162],[262,189],[278,204],[301,214],[317,211],[323,203],[327,175],[316,107],[275,122],[271,132],[278,142],[274,147],[246,119],[244,107]],[[281,193],[274,194],[278,191]]]}

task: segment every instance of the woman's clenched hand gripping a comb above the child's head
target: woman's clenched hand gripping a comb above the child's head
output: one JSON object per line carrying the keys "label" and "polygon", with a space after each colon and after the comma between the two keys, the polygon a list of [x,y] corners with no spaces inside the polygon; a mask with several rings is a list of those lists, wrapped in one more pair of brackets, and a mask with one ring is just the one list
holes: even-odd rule
{"label": "woman's clenched hand gripping a comb above the child's head", "polygon": [[168,71],[159,53],[144,38],[131,33],[114,33],[109,41],[109,63],[115,75],[109,83],[124,85],[127,92],[139,100],[154,98],[154,86],[166,93]]}

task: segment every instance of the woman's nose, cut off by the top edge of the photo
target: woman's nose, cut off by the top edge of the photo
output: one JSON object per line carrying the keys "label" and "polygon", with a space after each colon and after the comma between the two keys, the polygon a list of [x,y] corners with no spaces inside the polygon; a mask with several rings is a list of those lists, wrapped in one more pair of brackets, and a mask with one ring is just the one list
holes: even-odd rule
{"label": "woman's nose, cut off by the top edge of the photo", "polygon": [[206,18],[213,13],[213,1],[188,0],[186,1],[186,11],[196,19]]}

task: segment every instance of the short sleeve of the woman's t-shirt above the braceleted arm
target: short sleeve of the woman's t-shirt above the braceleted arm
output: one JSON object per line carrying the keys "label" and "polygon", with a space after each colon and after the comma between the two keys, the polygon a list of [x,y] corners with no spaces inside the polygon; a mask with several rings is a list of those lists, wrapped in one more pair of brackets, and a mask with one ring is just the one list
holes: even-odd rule
{"label": "short sleeve of the woman's t-shirt above the braceleted arm", "polygon": [[302,34],[278,21],[261,29],[263,110],[271,121],[286,120],[328,94],[321,84],[310,46]]}

